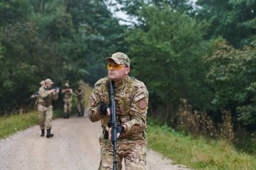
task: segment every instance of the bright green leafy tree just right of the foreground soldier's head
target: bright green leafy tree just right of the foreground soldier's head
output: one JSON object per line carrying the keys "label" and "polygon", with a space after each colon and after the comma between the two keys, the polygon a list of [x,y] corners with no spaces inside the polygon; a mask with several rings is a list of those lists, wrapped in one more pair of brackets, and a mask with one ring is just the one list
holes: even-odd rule
{"label": "bright green leafy tree just right of the foreground soldier's head", "polygon": [[[152,15],[154,13],[154,15]],[[132,73],[150,91],[151,106],[164,108],[164,120],[174,120],[181,99],[205,110],[210,93],[204,82],[206,69],[201,59],[206,44],[205,24],[172,11],[169,5],[143,7],[144,28],[133,28],[127,36]]]}

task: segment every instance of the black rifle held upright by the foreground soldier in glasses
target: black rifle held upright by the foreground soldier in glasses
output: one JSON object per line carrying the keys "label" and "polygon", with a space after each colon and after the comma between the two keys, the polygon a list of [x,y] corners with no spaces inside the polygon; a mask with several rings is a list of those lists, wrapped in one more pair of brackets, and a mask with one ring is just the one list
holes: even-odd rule
{"label": "black rifle held upright by the foreground soldier in glasses", "polygon": [[117,114],[116,114],[116,103],[114,98],[114,81],[109,81],[109,98],[110,98],[110,121],[111,124],[111,136],[113,144],[113,170],[117,169],[116,152],[117,152]]}

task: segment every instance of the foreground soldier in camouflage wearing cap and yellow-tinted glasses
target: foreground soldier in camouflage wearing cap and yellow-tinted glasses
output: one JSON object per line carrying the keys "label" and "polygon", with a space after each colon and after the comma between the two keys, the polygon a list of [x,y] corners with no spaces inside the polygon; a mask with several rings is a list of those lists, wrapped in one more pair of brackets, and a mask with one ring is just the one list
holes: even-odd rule
{"label": "foreground soldier in camouflage wearing cap and yellow-tinted glasses", "polygon": [[115,82],[115,103],[117,112],[117,169],[146,169],[146,114],[148,90],[137,79],[129,77],[130,60],[127,54],[117,52],[107,57],[108,77],[97,81],[90,96],[89,118],[92,122],[101,120],[103,134],[100,136],[101,169],[113,169],[113,144],[110,120],[108,82]]}

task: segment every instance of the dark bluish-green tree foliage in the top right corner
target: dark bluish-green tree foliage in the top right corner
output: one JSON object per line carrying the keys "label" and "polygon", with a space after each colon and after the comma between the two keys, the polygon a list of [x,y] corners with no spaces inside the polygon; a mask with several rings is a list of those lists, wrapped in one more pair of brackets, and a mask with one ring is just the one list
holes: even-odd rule
{"label": "dark bluish-green tree foliage in the top right corner", "polygon": [[241,47],[249,44],[255,35],[254,0],[198,0],[196,17],[210,22],[207,38],[222,36],[230,44]]}

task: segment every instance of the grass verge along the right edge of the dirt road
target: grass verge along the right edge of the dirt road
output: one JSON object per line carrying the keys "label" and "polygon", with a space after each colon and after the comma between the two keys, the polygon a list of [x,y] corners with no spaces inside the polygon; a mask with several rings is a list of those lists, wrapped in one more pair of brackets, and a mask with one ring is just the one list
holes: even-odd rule
{"label": "grass verge along the right edge of the dirt road", "polygon": [[175,132],[168,126],[148,125],[148,146],[175,163],[191,169],[253,170],[256,155],[247,155],[223,140],[193,138]]}

